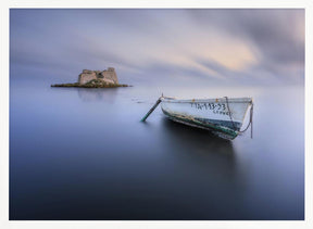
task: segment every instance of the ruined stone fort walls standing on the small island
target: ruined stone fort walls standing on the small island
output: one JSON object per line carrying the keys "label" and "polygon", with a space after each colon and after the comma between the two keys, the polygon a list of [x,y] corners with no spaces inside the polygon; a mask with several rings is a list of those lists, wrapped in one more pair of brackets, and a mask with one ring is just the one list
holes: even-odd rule
{"label": "ruined stone fort walls standing on the small island", "polygon": [[83,69],[83,73],[80,73],[78,76],[78,84],[85,85],[92,79],[100,79],[110,85],[118,85],[117,75],[114,67],[108,67],[108,69],[104,69],[102,72]]}

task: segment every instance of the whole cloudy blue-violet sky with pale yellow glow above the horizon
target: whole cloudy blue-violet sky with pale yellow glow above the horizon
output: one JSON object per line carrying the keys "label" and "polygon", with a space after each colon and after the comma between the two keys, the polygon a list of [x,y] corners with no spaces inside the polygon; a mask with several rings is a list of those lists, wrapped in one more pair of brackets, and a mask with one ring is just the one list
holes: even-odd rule
{"label": "whole cloudy blue-violet sky with pale yellow glow above the horizon", "polygon": [[[302,9],[11,9],[10,78],[130,85],[304,85]],[[54,80],[54,81],[53,81]]]}

